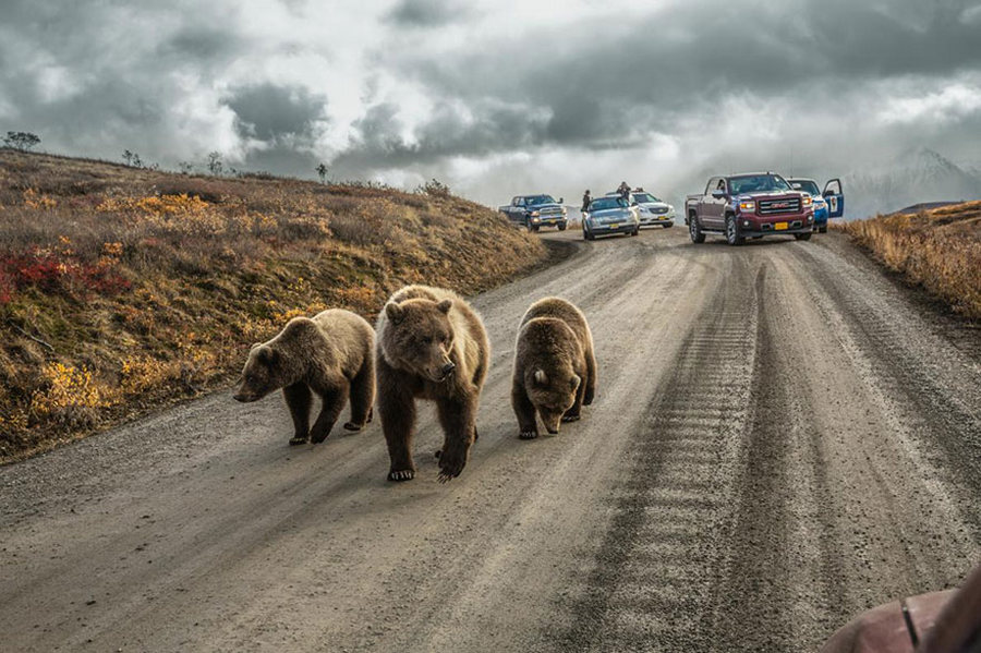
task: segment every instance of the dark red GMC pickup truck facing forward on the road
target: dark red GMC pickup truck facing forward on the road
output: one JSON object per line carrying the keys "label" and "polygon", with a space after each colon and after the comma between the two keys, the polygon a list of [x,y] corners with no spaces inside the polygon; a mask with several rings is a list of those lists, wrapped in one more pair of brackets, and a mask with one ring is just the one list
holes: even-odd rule
{"label": "dark red GMC pickup truck facing forward on the road", "polygon": [[713,177],[703,195],[686,199],[685,223],[694,243],[704,242],[706,233],[725,235],[730,245],[764,235],[809,240],[814,207],[808,193],[774,172]]}

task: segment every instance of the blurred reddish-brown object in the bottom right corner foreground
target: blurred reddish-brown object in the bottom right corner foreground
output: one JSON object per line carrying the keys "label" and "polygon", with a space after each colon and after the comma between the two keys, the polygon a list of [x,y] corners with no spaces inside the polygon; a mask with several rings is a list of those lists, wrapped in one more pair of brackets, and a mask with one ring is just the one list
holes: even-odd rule
{"label": "blurred reddish-brown object in the bottom right corner foreground", "polygon": [[821,653],[981,652],[981,566],[961,589],[872,608],[838,630]]}

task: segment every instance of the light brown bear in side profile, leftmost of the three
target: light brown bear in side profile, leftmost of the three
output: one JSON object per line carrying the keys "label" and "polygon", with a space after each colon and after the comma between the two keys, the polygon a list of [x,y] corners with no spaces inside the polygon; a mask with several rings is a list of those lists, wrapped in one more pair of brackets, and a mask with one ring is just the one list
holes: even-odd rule
{"label": "light brown bear in side profile, leftmost of the three", "polygon": [[[294,317],[268,342],[256,342],[249,352],[237,401],[257,401],[282,388],[293,416],[291,445],[322,443],[351,398],[348,431],[361,431],[372,421],[375,401],[375,331],[360,315],[330,309],[313,318]],[[312,392],[323,406],[310,427]]]}

